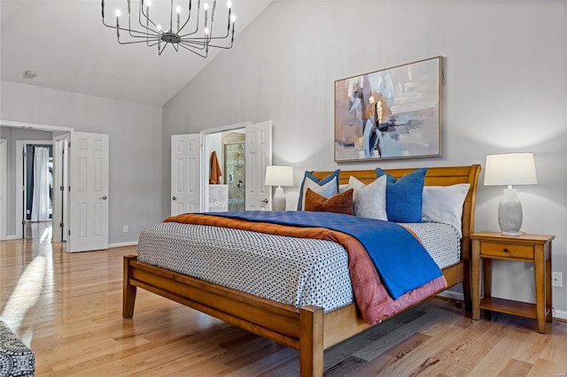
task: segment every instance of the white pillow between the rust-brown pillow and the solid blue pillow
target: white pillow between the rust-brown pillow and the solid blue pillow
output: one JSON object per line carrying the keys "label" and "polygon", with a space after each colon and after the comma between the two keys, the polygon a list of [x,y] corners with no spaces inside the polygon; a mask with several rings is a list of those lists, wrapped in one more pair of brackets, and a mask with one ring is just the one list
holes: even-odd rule
{"label": "white pillow between the rust-brown pillow and the solid blue pillow", "polygon": [[354,188],[354,216],[369,219],[388,220],[386,213],[386,176],[365,185],[354,177],[348,179],[348,187]]}

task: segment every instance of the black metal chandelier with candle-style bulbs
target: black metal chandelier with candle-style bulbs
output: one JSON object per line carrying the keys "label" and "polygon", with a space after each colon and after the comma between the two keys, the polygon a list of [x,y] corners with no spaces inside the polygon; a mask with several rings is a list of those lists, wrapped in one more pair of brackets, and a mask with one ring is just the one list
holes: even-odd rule
{"label": "black metal chandelier with candle-style bulbs", "polygon": [[[120,24],[120,9],[117,9],[115,12],[116,26],[107,24],[105,22],[105,0],[102,0],[101,3],[103,24],[106,27],[116,29],[116,36],[120,44],[146,43],[148,47],[158,46],[158,55],[161,55],[167,45],[171,44],[175,51],[182,47],[202,58],[207,57],[210,47],[218,49],[230,49],[232,47],[232,42],[234,41],[235,16],[231,14],[232,4],[230,0],[227,2],[228,17],[226,34],[223,29],[222,32],[217,33],[217,35],[214,35],[213,31],[214,16],[216,15],[216,0],[214,0],[211,9],[209,8],[209,4],[204,3],[204,12],[201,12],[201,0],[197,2],[197,12],[194,12],[194,10],[191,11],[191,0],[189,0],[189,4],[184,5],[183,8],[180,5],[174,8],[174,0],[170,0],[168,10],[169,25],[166,26],[166,28],[150,19],[150,9],[153,10],[155,8],[155,5],[151,4],[151,0],[146,0],[145,2],[144,0],[139,0],[139,12],[137,17],[139,27],[136,25],[136,19],[132,22],[131,0],[127,0],[127,3],[128,27]],[[185,4],[186,0],[183,2],[178,0],[175,3]],[[154,12],[155,11],[152,11],[152,14]],[[136,12],[134,17],[136,18]],[[199,21],[203,23],[201,32],[199,32]],[[133,23],[134,25],[132,25]],[[137,29],[134,27],[137,27]],[[185,27],[187,27],[187,29]],[[123,32],[123,35],[128,38],[127,41],[120,40],[120,32]],[[230,43],[226,42],[223,45],[222,41],[228,41],[229,37]]]}

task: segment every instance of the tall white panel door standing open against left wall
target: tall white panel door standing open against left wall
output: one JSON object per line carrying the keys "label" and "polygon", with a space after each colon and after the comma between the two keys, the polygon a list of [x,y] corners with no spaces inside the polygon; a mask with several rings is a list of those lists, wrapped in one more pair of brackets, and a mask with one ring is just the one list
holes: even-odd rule
{"label": "tall white panel door standing open against left wall", "polygon": [[71,133],[67,251],[108,249],[108,135]]}

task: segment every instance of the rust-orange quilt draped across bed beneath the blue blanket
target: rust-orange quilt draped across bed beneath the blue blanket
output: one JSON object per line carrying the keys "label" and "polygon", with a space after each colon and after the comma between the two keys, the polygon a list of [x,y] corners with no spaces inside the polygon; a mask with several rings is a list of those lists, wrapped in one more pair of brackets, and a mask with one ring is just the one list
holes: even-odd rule
{"label": "rust-orange quilt draped across bed beneath the blue blanket", "polygon": [[380,281],[376,267],[372,263],[361,242],[351,235],[330,230],[324,227],[288,227],[283,225],[252,222],[241,219],[229,219],[220,216],[207,216],[198,213],[187,213],[170,217],[165,221],[189,224],[208,225],[214,227],[230,227],[273,235],[286,235],[299,238],[315,238],[337,242],[348,253],[348,269],[353,284],[353,292],[361,310],[362,318],[374,325],[385,317],[408,308],[412,304],[447,288],[444,276],[430,281],[418,289],[414,289],[394,300],[388,295]]}

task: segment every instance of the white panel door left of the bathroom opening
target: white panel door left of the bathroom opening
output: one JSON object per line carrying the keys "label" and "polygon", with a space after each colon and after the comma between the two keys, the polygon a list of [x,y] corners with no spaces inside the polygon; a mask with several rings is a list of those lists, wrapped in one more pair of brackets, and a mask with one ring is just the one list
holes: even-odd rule
{"label": "white panel door left of the bathroom opening", "polygon": [[201,135],[171,135],[171,216],[201,210]]}

